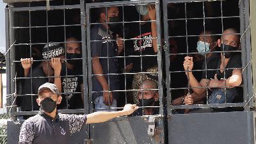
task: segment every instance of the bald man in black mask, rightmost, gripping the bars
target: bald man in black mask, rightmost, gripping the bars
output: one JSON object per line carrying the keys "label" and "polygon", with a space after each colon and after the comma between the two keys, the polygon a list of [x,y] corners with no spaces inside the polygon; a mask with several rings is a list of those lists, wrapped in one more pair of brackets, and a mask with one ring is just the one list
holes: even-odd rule
{"label": "bald man in black mask, rightmost, gripping the bars", "polygon": [[[223,31],[221,40],[218,40],[221,49],[220,54],[209,58],[207,61],[207,72],[203,72],[200,83],[196,81],[192,72],[186,72],[189,76],[189,84],[193,88],[191,95],[196,101],[202,99],[202,95],[209,88],[209,103],[221,104],[233,102],[237,95],[237,86],[242,83],[241,54],[239,51],[239,35],[235,29],[229,28]],[[203,65],[205,67],[205,64]],[[186,56],[184,69],[192,70],[193,58]],[[205,87],[205,88],[198,88]],[[195,100],[196,99],[196,100]]]}

